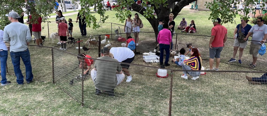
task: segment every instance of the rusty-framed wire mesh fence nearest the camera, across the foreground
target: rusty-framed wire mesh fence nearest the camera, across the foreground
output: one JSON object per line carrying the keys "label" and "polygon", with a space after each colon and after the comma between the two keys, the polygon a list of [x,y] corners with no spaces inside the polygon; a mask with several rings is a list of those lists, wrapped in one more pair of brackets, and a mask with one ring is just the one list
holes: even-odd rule
{"label": "rusty-framed wire mesh fence nearest the camera, across the foreground", "polygon": [[[185,70],[164,69],[167,78],[159,78],[158,67],[129,64],[132,81],[127,83],[127,76],[117,76],[117,81],[124,81],[114,88],[115,97],[111,97],[107,90],[95,95],[94,73],[83,75],[85,70],[78,67],[76,54],[54,48],[53,59],[55,84],[82,105],[112,115],[263,115],[267,110],[267,86],[254,86],[246,79],[267,72],[207,71],[197,80],[191,80],[191,76],[185,80],[180,77]],[[114,73],[112,70],[118,65],[87,59],[94,60],[91,69],[96,61],[104,62],[102,66],[109,68],[97,68],[97,74],[107,78],[110,77],[105,75]],[[101,76],[97,79],[101,80]]]}

